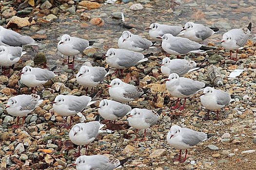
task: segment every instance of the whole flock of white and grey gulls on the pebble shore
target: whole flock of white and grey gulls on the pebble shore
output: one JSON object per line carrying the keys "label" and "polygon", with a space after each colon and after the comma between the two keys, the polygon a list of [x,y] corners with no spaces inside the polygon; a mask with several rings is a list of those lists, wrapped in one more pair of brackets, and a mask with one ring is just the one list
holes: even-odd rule
{"label": "whole flock of white and grey gulls on the pebble shore", "polygon": [[[232,29],[223,34],[221,46],[225,50],[230,51],[230,58],[237,59],[237,50],[246,44],[251,27],[252,24],[250,23],[247,28]],[[177,109],[180,99],[184,99],[183,105],[178,108],[183,110],[186,99],[202,91],[200,96],[202,105],[209,111],[217,110],[218,119],[218,110],[230,102],[230,94],[206,86],[203,82],[182,77],[186,73],[199,68],[195,61],[179,59],[179,57],[191,52],[204,53],[209,50],[216,50],[212,47],[205,47],[200,42],[215,34],[219,28],[208,28],[201,24],[187,22],[184,27],[152,23],[146,30],[149,30],[149,35],[152,39],[161,43],[161,48],[165,51],[166,56],[169,54],[177,55],[177,59],[171,60],[165,57],[161,63],[161,72],[168,77],[164,80],[166,88],[172,97],[177,98],[176,105],[170,109]],[[18,62],[25,53],[22,51],[22,46],[36,43],[37,41],[29,36],[18,34],[0,26],[0,65],[3,73],[6,74],[6,67],[11,69],[11,66]],[[69,57],[73,56],[71,68],[74,69],[75,56],[86,49],[92,48],[93,43],[92,41],[64,34],[58,43],[58,51],[68,56],[68,64],[70,64]],[[102,59],[105,58],[110,68],[117,69],[115,73],[118,73],[120,70],[122,75],[122,69],[148,61],[153,53],[144,55],[141,51],[154,48],[155,43],[129,31],[124,31],[118,39],[119,49],[109,49]],[[236,57],[232,57],[232,50],[236,50]],[[92,88],[93,91],[93,87],[100,84],[108,74],[110,74],[108,69],[104,67],[93,67],[90,64],[81,66],[76,74],[76,79],[79,85],[86,88],[86,95],[59,95],[52,102],[56,113],[64,117],[71,116],[70,122],[65,126],[66,128],[71,128],[69,133],[70,140],[79,146],[79,152],[75,155],[79,157],[71,165],[76,166],[77,170],[114,170],[129,159],[119,161],[104,155],[88,156],[86,155],[87,153],[80,155],[80,146],[85,145],[87,149],[87,145],[94,141],[103,126],[96,120],[87,123],[77,123],[71,127],[72,116],[79,114],[87,106],[97,101],[94,98],[94,93],[91,93],[91,96],[87,96],[88,88]],[[10,76],[10,71],[7,75]],[[32,68],[30,66],[25,66],[21,70],[20,75],[20,81],[24,85],[31,87],[32,94],[21,94],[9,98],[5,108],[8,114],[17,117],[15,127],[19,127],[19,117],[25,117],[42,102],[42,99],[37,94],[37,86],[45,84],[56,76],[54,71]],[[129,125],[136,129],[134,140],[137,140],[138,130],[143,129],[145,131],[142,140],[146,140],[146,129],[157,123],[158,115],[148,109],[132,109],[129,106],[129,102],[136,100],[142,95],[146,95],[149,89],[127,84],[118,78],[113,79],[107,87],[109,87],[109,95],[112,100],[104,99],[100,101],[97,107],[99,115],[106,120],[114,120],[114,123],[116,119],[127,116]],[[177,161],[184,162],[187,156],[187,149],[206,140],[208,137],[209,135],[205,133],[174,125],[167,134],[167,141],[170,146],[180,150]],[[180,157],[181,150],[186,150],[184,159]]]}

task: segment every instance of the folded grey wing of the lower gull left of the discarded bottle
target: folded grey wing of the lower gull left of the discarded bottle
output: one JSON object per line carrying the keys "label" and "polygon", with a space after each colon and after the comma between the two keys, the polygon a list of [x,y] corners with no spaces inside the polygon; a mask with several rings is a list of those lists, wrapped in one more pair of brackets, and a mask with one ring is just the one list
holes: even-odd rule
{"label": "folded grey wing of the lower gull left of the discarded bottle", "polygon": [[179,88],[178,91],[185,96],[193,95],[205,86],[205,84],[202,82],[194,81],[183,77],[180,77],[180,81],[182,81],[182,83],[180,85],[181,88]]}

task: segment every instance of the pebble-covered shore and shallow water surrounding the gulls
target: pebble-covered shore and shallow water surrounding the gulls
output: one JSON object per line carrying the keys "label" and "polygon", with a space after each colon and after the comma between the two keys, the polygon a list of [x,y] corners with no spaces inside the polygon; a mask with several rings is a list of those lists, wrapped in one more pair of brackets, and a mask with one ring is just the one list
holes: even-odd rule
{"label": "pebble-covered shore and shallow water surrounding the gulls", "polygon": [[[191,20],[207,26],[223,28],[218,34],[203,42],[215,46],[216,51],[203,55],[189,54],[184,58],[192,58],[199,65],[214,64],[224,79],[224,86],[216,88],[228,91],[233,95],[234,100],[220,111],[219,120],[203,120],[207,111],[199,101],[199,94],[187,100],[186,108],[182,112],[170,110],[175,99],[167,93],[165,84],[161,84],[165,77],[158,73],[161,60],[165,56],[158,47],[143,51],[143,53],[153,52],[154,56],[148,62],[126,69],[122,80],[151,89],[147,96],[131,102],[130,105],[160,113],[158,123],[147,129],[146,141],[132,143],[135,130],[128,126],[127,118],[124,117],[118,121],[124,123],[123,129],[113,134],[99,134],[89,146],[88,154],[106,154],[118,159],[131,157],[123,170],[255,169],[256,31],[253,28],[247,45],[239,51],[238,62],[226,60],[229,52],[219,47],[221,36],[227,30],[247,27],[249,22],[254,26],[255,0],[234,0],[232,3],[208,0],[123,0],[132,2],[106,5],[103,1],[95,0],[95,3],[87,7],[81,6],[79,1],[57,0],[52,3],[49,0],[47,3],[41,0],[36,1],[35,7],[28,4],[25,8],[21,6],[19,9],[18,5],[21,3],[19,0],[0,1],[1,14],[4,16],[0,20],[0,25],[5,25],[14,15],[37,17],[36,24],[14,30],[21,34],[46,38],[38,47],[26,47],[27,54],[15,65],[10,78],[0,75],[1,170],[74,170],[74,167],[67,165],[74,163],[76,158],[72,153],[78,152],[78,148],[68,140],[69,130],[59,127],[59,124],[70,118],[62,118],[54,113],[50,102],[54,101],[58,94],[85,95],[85,90],[76,83],[74,76],[85,61],[90,61],[94,66],[107,67],[102,56],[109,48],[117,48],[119,36],[122,31],[127,30],[119,25],[120,12],[125,15],[125,25],[135,27],[130,29],[131,32],[148,39],[150,39],[149,35],[144,28],[155,21],[184,25]],[[130,10],[130,7],[136,3],[142,4],[143,9]],[[57,51],[57,43],[62,34],[96,41],[94,49],[84,51],[84,55],[80,54],[76,57],[75,73],[66,66],[67,57],[61,57]],[[48,68],[57,66],[59,76],[38,87],[38,91],[45,88],[42,94],[45,98],[44,102],[25,118],[23,127],[13,129],[12,125],[17,119],[8,116],[4,107],[10,97],[29,93],[30,89],[20,83],[18,73],[24,65],[39,67],[37,60],[34,59],[35,56],[38,56],[39,60],[46,57]],[[228,78],[236,68],[245,71],[236,78]],[[207,68],[191,72],[185,77],[211,84]],[[107,77],[95,88],[102,92],[100,99],[109,98],[105,86],[114,78],[115,75]],[[60,86],[57,82],[63,85]],[[49,88],[56,90],[51,93]],[[248,95],[249,100],[243,100],[244,95]],[[97,109],[94,109],[96,106],[98,102],[83,112],[87,121],[96,118],[98,114]],[[210,117],[215,118],[215,114],[211,112]],[[79,122],[79,117],[76,116],[74,120],[75,123]],[[21,123],[22,118],[19,121]],[[166,141],[166,135],[174,124],[216,136],[189,149],[185,163],[174,162],[172,159],[177,156],[178,150],[171,148]],[[143,132],[139,132],[138,135],[142,138]],[[244,151],[248,153],[243,153]],[[82,153],[84,152],[83,148]]]}

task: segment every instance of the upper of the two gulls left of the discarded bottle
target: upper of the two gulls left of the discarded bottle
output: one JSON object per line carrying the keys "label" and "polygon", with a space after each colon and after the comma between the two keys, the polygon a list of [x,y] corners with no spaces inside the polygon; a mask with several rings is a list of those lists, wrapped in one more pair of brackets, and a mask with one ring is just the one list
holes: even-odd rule
{"label": "upper of the two gulls left of the discarded bottle", "polygon": [[184,74],[199,69],[196,68],[197,63],[193,60],[185,60],[185,59],[170,59],[169,57],[165,57],[162,60],[161,64],[161,72],[169,76],[171,73],[177,73],[179,76],[183,76]]}

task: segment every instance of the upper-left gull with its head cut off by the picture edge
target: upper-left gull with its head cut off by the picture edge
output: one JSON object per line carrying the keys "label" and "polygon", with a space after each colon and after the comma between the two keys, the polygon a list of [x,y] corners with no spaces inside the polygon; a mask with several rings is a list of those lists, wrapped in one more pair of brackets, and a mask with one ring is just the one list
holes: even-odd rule
{"label": "upper-left gull with its head cut off by the picture edge", "polygon": [[24,45],[37,45],[37,41],[41,41],[44,39],[40,38],[31,38],[30,36],[20,35],[15,31],[8,30],[0,26],[0,45],[1,46],[24,46]]}

